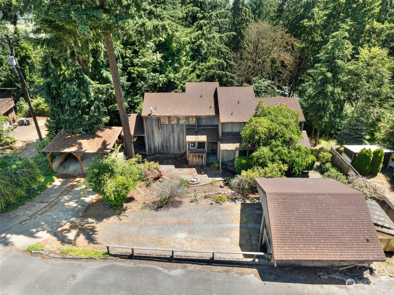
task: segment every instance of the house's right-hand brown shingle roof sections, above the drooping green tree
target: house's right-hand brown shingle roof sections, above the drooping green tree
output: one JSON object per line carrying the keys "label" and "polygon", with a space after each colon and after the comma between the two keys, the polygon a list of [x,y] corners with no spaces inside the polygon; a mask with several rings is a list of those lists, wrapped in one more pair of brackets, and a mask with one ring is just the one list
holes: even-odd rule
{"label": "house's right-hand brown shingle roof sections, above the drooping green tree", "polygon": [[[299,112],[300,121],[305,121],[301,106],[296,97],[262,97],[255,98],[253,87],[219,87],[217,88],[220,121],[247,122],[255,114],[259,101],[265,101],[266,106],[277,106],[279,103],[294,108]],[[239,103],[238,103],[239,101]]]}

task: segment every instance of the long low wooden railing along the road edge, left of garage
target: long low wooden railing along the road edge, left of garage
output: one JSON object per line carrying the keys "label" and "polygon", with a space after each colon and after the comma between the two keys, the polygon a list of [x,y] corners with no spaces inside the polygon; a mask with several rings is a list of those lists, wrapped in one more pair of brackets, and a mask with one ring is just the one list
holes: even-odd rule
{"label": "long low wooden railing along the road edge, left of garage", "polygon": [[[147,247],[134,247],[134,246],[118,246],[118,245],[106,245],[108,254],[110,254],[110,248],[123,248],[123,249],[131,249],[131,256],[139,256],[139,257],[152,257],[152,256],[158,256],[158,255],[148,255],[148,254],[136,254],[135,250],[152,250],[152,251],[168,251],[171,252],[171,256],[168,256],[168,258],[180,258],[180,259],[185,259],[185,258],[190,258],[190,257],[182,257],[174,256],[174,252],[188,252],[188,253],[210,253],[212,254],[212,257],[209,258],[208,260],[214,261],[215,260],[215,254],[240,254],[240,255],[253,255],[253,261],[256,260],[256,256],[264,256],[265,259],[270,260],[271,259],[271,253],[263,253],[263,252],[232,252],[232,251],[215,251],[215,250],[183,250],[183,249],[168,249],[168,248],[147,248]],[[160,256],[162,257],[162,256]],[[217,258],[216,258],[217,259]],[[230,260],[234,261],[234,260]]]}

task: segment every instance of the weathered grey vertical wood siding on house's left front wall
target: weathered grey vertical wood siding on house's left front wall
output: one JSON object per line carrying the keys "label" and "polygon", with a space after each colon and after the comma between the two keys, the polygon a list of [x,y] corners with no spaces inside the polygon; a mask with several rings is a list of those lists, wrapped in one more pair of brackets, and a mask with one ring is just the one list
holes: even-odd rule
{"label": "weathered grey vertical wood siding on house's left front wall", "polygon": [[161,124],[158,130],[158,117],[144,117],[146,141],[149,153],[185,153],[186,125]]}

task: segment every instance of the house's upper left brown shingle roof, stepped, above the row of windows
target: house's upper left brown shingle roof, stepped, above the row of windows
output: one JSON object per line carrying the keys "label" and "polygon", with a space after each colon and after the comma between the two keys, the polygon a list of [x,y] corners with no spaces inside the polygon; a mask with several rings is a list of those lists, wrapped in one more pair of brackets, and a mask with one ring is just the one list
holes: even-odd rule
{"label": "house's upper left brown shingle roof, stepped, above the row of windows", "polygon": [[219,88],[218,82],[186,82],[186,92],[145,93],[141,115],[219,115],[217,108],[215,108],[216,88]]}

